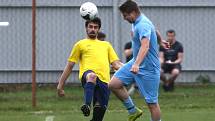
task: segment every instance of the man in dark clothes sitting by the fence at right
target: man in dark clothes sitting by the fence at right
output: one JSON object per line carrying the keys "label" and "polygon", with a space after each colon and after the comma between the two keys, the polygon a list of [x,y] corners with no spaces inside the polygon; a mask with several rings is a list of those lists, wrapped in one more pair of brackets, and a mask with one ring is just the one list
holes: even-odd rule
{"label": "man in dark clothes sitting by the fence at right", "polygon": [[[176,41],[174,30],[166,32],[167,41],[170,43],[169,49],[160,47],[161,80],[165,91],[174,90],[174,82],[181,72],[181,62],[183,60],[183,46]],[[170,76],[167,78],[166,73]]]}

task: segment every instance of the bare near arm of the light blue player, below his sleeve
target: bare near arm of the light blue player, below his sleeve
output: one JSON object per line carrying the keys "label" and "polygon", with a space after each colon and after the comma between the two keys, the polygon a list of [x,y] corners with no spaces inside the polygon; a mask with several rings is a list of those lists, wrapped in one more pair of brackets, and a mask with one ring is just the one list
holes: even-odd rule
{"label": "bare near arm of the light blue player, below his sleeve", "polygon": [[143,61],[143,59],[146,56],[148,50],[149,50],[149,39],[148,38],[143,38],[141,40],[141,47],[139,49],[136,61],[132,65],[130,71],[132,71],[133,73],[137,73],[139,71],[139,65]]}

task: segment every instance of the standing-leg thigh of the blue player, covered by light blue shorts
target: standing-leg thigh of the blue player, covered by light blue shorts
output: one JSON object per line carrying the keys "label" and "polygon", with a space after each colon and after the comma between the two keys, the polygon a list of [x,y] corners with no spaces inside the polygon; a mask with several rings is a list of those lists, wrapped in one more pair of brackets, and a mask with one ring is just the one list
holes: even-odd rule
{"label": "standing-leg thigh of the blue player, covered by light blue shorts", "polygon": [[158,102],[158,90],[160,82],[160,73],[146,73],[135,77],[136,84],[141,95],[147,103]]}

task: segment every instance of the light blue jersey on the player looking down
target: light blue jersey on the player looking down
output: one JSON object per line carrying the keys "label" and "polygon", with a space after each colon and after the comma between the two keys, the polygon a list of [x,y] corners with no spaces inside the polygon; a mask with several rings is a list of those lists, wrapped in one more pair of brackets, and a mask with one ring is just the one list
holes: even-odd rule
{"label": "light blue jersey on the player looking down", "polygon": [[131,60],[131,64],[133,64],[138,55],[141,40],[143,38],[149,39],[149,50],[140,64],[140,73],[144,73],[144,71],[160,71],[160,62],[158,56],[158,43],[157,43],[157,35],[155,31],[155,27],[152,22],[144,15],[141,14],[136,21],[132,24],[133,31],[133,41],[132,41],[132,49],[133,49],[133,59]]}

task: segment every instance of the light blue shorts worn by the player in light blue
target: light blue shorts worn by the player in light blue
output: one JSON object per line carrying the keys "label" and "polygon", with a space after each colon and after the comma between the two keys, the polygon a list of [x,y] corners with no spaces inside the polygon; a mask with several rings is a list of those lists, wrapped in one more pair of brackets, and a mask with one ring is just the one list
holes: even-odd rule
{"label": "light blue shorts worn by the player in light blue", "polygon": [[138,86],[141,95],[145,98],[146,103],[157,103],[160,71],[140,70],[138,74],[134,74],[129,71],[131,66],[132,65],[129,63],[125,64],[114,74],[114,76],[122,81],[123,85],[130,85],[136,82],[136,85]]}

